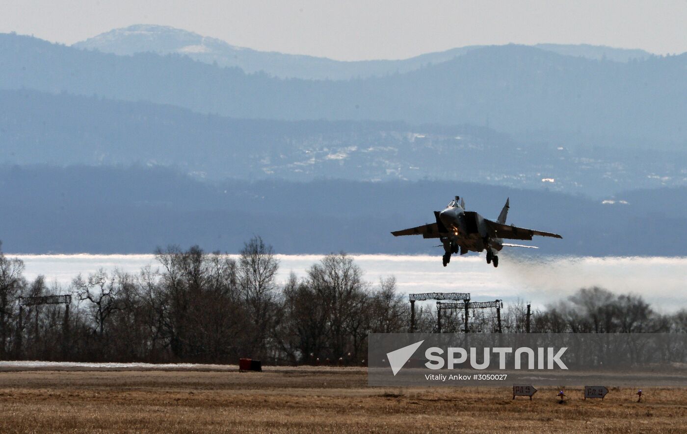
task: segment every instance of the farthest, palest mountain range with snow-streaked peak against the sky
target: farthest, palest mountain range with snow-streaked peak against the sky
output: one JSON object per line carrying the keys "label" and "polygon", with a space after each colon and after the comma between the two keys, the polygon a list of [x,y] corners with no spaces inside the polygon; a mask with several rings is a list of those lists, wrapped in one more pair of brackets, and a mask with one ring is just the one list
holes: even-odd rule
{"label": "farthest, palest mountain range with snow-streaked peak against the sky", "polygon": [[[95,49],[104,53],[133,55],[136,53],[180,54],[221,67],[238,67],[247,73],[263,71],[282,78],[313,80],[348,80],[351,78],[382,77],[395,73],[415,71],[462,56],[483,45],[459,47],[437,53],[427,53],[403,60],[363,60],[342,62],[328,58],[256,51],[236,47],[216,38],[201,36],[174,27],[162,25],[131,25],[82,40],[72,47]],[[534,47],[582,58],[616,62],[631,59],[644,60],[651,53],[638,49],[595,47],[592,45],[539,44]]]}

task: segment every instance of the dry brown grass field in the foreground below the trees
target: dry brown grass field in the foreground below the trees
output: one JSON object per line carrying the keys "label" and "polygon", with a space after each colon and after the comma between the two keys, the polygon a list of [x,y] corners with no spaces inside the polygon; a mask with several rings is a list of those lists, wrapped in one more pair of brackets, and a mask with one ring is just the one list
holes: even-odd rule
{"label": "dry brown grass field in the foreground below the trees", "polygon": [[[383,389],[361,368],[0,372],[0,433],[686,432],[687,388]],[[610,386],[610,385],[609,385]]]}

